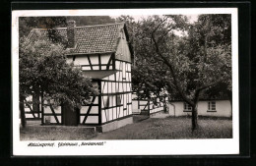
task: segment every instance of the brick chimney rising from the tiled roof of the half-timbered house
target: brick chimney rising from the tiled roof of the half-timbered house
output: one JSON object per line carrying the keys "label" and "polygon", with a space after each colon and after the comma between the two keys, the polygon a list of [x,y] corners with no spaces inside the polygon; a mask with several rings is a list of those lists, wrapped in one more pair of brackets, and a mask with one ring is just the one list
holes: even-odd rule
{"label": "brick chimney rising from the tiled roof of the half-timbered house", "polygon": [[68,48],[74,48],[76,45],[76,22],[68,21],[67,24]]}

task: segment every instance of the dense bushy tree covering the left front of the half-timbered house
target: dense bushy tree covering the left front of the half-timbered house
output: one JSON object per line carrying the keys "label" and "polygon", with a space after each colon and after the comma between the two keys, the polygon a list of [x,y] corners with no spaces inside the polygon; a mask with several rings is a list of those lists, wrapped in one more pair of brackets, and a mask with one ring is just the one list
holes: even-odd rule
{"label": "dense bushy tree covering the left front of the half-timbered house", "polygon": [[[43,49],[44,48],[44,49]],[[28,96],[41,96],[42,106],[68,103],[80,107],[96,95],[91,81],[73,64],[67,64],[63,45],[45,40],[31,42],[21,38],[19,50],[20,110],[26,126],[24,104]],[[46,103],[45,103],[45,102]],[[35,101],[33,101],[35,102]],[[38,102],[38,100],[37,100]]]}

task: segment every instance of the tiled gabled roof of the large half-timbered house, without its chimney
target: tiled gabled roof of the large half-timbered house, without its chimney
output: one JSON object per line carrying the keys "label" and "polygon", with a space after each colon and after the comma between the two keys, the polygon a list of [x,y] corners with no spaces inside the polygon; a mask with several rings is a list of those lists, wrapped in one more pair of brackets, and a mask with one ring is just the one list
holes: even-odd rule
{"label": "tiled gabled roof of the large half-timbered house, without its chimney", "polygon": [[[75,27],[75,48],[70,54],[94,54],[115,52],[120,37],[120,30],[125,28],[124,23]],[[124,29],[126,32],[126,29]],[[56,28],[57,33],[67,40],[67,28]],[[30,41],[38,38],[49,40],[46,28],[33,28],[28,36]]]}

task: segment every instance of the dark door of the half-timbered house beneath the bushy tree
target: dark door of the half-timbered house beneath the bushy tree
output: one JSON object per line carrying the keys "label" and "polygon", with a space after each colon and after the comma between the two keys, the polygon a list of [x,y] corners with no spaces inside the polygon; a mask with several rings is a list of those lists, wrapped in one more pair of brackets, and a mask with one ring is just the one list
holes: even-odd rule
{"label": "dark door of the half-timbered house beneath the bushy tree", "polygon": [[65,126],[78,126],[79,125],[79,112],[78,108],[74,108],[70,104],[63,104],[63,125]]}

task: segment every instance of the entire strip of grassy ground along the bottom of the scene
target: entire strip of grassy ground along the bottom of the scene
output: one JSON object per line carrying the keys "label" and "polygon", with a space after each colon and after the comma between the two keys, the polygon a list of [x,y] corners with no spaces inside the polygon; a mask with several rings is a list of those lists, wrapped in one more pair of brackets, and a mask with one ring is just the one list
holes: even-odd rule
{"label": "entire strip of grassy ground along the bottom of the scene", "polygon": [[[174,138],[232,138],[229,119],[200,118],[199,129],[191,132],[191,118],[164,119],[134,117],[134,124],[115,131],[97,134],[76,128],[21,129],[22,140],[86,140],[86,139],[174,139]],[[50,130],[49,130],[50,129]]]}

